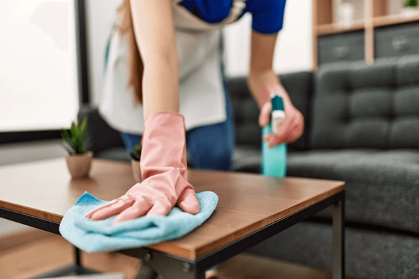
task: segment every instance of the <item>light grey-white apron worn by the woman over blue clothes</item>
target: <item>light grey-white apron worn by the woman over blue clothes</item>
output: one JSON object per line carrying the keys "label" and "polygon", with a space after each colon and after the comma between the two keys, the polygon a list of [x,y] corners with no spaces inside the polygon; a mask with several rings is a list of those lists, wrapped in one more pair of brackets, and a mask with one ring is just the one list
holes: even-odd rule
{"label": "light grey-white apron worn by the woman over blue clothes", "polygon": [[[186,130],[226,121],[226,98],[221,73],[221,28],[235,22],[245,7],[244,0],[233,1],[223,22],[210,24],[173,1],[176,43],[179,54],[179,113]],[[144,115],[135,106],[132,91],[126,89],[128,70],[125,41],[115,34],[110,44],[109,66],[99,113],[108,124],[124,133],[142,134]]]}

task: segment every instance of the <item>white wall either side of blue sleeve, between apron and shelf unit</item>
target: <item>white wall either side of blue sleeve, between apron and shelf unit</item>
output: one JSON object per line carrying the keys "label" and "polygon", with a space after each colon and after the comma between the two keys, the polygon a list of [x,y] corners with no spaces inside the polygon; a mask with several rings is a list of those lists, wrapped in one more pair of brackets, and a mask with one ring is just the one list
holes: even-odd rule
{"label": "white wall either side of blue sleeve, between apron and shelf unit", "polygon": [[[226,36],[226,74],[245,75],[249,69],[251,16],[224,29]],[[311,0],[286,2],[284,27],[275,48],[277,73],[311,70]]]}

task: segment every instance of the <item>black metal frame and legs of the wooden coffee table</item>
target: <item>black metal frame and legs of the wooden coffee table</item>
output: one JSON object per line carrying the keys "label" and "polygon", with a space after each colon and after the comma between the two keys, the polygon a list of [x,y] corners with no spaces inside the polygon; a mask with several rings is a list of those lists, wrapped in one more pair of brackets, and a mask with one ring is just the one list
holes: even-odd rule
{"label": "black metal frame and legs of the wooden coffee table", "polygon": [[[300,211],[297,211],[286,218],[277,220],[276,222],[267,225],[257,231],[237,239],[233,243],[229,243],[218,250],[214,250],[198,259],[191,260],[174,255],[169,255],[163,252],[157,252],[148,248],[135,248],[129,250],[121,250],[124,255],[142,259],[142,262],[149,265],[164,279],[203,279],[205,278],[205,271],[210,269],[216,264],[244,252],[248,248],[269,239],[275,234],[300,223],[302,220],[313,216],[314,214],[330,207],[332,213],[332,238],[333,238],[333,265],[332,265],[332,278],[343,279],[345,278],[345,191],[341,191],[335,195],[327,197],[316,204],[307,206]],[[24,213],[10,211],[8,209],[0,208],[0,217],[8,220],[15,221],[37,229],[42,229],[47,232],[59,234],[59,223],[44,220],[34,216],[29,216]],[[37,278],[45,278],[52,276],[62,276],[68,273],[75,274],[89,274],[95,273],[89,269],[85,269],[80,260],[80,250],[75,248],[75,264],[68,266],[59,271],[44,274]]]}

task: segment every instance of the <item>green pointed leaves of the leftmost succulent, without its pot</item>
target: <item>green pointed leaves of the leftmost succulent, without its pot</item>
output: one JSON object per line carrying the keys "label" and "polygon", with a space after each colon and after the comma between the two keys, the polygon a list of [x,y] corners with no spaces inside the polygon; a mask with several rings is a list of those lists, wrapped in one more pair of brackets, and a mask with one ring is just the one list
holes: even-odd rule
{"label": "green pointed leaves of the leftmost succulent, without its pot", "polygon": [[89,144],[84,138],[87,128],[87,117],[82,123],[71,122],[70,130],[62,129],[61,137],[64,140],[64,147],[70,155],[80,155],[89,151]]}

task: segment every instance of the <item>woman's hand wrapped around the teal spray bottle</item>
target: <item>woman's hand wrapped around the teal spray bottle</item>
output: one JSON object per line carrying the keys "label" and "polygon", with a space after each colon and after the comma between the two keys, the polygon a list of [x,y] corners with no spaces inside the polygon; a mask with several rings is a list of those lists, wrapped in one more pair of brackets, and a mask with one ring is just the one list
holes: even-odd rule
{"label": "woman's hand wrapped around the teal spray bottle", "polygon": [[[280,86],[266,86],[265,93],[270,96],[271,93],[281,93],[284,89]],[[265,135],[263,140],[267,142],[267,145],[272,147],[278,144],[292,143],[301,137],[304,130],[304,117],[302,113],[297,110],[288,96],[284,99],[285,108],[285,120],[277,127],[277,133],[271,135]],[[271,102],[268,101],[263,105],[259,114],[259,125],[261,127],[267,126],[270,122],[270,114],[272,112]]]}

